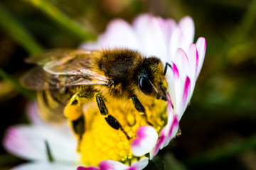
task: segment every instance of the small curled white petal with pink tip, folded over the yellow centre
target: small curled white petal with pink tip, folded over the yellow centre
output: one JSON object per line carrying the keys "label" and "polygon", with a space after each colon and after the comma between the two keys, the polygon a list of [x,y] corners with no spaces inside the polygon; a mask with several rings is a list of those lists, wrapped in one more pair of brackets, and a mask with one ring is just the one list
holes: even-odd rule
{"label": "small curled white petal with pink tip, folded over the yellow centre", "polygon": [[132,154],[137,157],[151,152],[156,145],[158,134],[151,126],[142,126],[137,130],[137,137],[132,142]]}

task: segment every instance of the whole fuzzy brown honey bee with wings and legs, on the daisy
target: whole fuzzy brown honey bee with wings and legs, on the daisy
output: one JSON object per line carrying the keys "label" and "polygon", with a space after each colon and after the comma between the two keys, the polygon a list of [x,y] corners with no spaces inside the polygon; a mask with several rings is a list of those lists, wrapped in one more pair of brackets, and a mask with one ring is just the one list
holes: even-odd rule
{"label": "whole fuzzy brown honey bee with wings and legs, on the daisy", "polygon": [[42,117],[57,122],[68,118],[80,139],[86,131],[82,106],[88,103],[97,103],[97,113],[129,140],[121,123],[109,113],[108,103],[120,107],[126,104],[120,113],[136,110],[148,125],[153,125],[145,106],[150,107],[155,100],[166,101],[165,74],[171,65],[166,63],[164,67],[159,58],[144,57],[134,50],[51,50],[26,62],[38,64],[22,82],[38,91]]}

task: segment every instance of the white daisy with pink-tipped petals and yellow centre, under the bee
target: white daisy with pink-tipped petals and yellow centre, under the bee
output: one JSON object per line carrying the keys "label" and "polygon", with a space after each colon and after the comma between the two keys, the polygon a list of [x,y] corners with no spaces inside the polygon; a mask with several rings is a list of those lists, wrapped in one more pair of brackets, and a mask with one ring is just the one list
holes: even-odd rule
{"label": "white daisy with pink-tipped petals and yellow centre, under the bee", "polygon": [[[6,132],[6,149],[33,161],[15,169],[144,169],[149,159],[174,138],[181,116],[191,100],[206,52],[206,40],[198,38],[193,43],[193,38],[194,23],[189,16],[178,23],[150,14],[138,16],[132,25],[121,19],[111,21],[97,42],[80,47],[87,50],[137,50],[146,57],[159,57],[164,65],[169,63],[167,103],[159,103],[153,110],[146,108],[146,113],[157,126],[135,123],[132,128],[128,127],[129,130],[124,127],[124,130],[134,133],[134,138],[129,141],[124,133],[111,128],[98,114],[95,115],[97,121],[92,119],[90,132],[82,136],[77,151],[78,142],[68,126],[48,125],[36,118],[36,111],[32,111],[32,125],[18,125]],[[84,108],[85,113],[88,109]],[[114,113],[114,109],[110,108],[110,111]],[[121,121],[118,119],[121,124],[122,119],[132,121],[129,115],[121,117]],[[141,117],[136,117],[137,122],[142,122]]]}

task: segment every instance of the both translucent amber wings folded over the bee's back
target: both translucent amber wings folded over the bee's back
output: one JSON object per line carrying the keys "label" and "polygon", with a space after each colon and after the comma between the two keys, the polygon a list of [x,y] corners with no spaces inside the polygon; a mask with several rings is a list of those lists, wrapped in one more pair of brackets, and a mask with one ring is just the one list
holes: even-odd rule
{"label": "both translucent amber wings folded over the bee's back", "polygon": [[27,62],[41,66],[24,75],[22,82],[28,89],[47,90],[62,86],[108,84],[108,79],[93,68],[97,51],[52,50],[31,57]]}

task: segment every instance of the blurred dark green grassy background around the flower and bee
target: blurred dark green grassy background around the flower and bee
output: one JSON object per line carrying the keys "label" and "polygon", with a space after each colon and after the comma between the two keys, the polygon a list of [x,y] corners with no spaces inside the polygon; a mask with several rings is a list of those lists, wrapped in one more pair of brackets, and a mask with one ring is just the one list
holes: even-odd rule
{"label": "blurred dark green grassy background around the flower and bee", "polygon": [[[17,83],[32,67],[25,57],[78,47],[95,40],[113,18],[131,22],[148,12],[176,21],[192,16],[195,40],[203,36],[207,42],[182,135],[156,162],[173,170],[256,169],[255,0],[1,0],[0,140],[10,125],[28,123],[26,103],[34,94]],[[21,162],[0,146],[0,169]]]}

